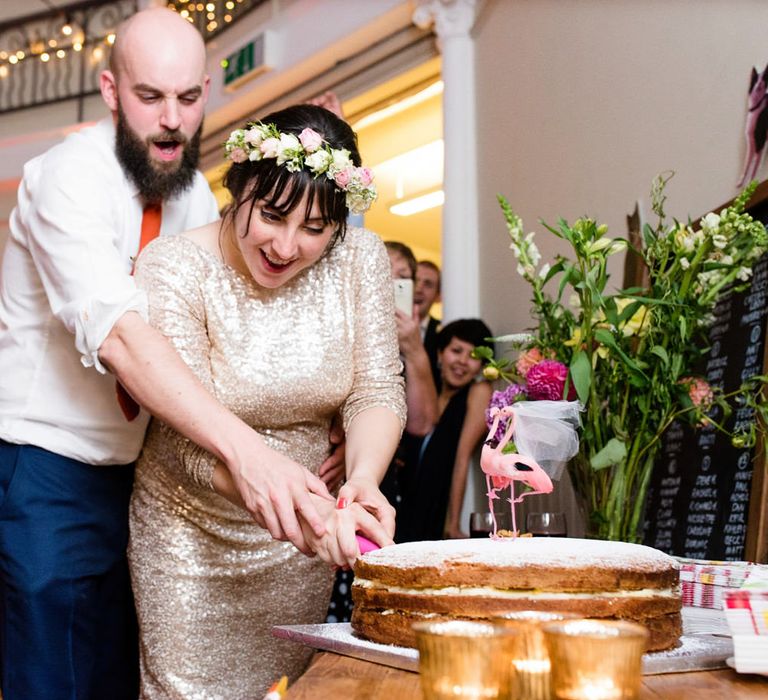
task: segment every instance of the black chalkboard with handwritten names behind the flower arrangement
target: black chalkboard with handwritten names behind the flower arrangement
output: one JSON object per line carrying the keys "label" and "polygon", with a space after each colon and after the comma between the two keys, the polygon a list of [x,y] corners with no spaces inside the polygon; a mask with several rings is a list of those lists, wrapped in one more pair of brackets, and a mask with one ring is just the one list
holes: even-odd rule
{"label": "black chalkboard with handwritten names behind the flower arrangement", "polygon": [[[768,183],[749,211],[768,221]],[[719,301],[702,374],[728,392],[764,373],[767,332],[768,255],[755,265],[748,289]],[[733,430],[752,420],[751,409],[737,407],[726,425]],[[768,561],[765,468],[761,445],[739,449],[711,426],[673,424],[649,486],[645,544],[694,559]]]}

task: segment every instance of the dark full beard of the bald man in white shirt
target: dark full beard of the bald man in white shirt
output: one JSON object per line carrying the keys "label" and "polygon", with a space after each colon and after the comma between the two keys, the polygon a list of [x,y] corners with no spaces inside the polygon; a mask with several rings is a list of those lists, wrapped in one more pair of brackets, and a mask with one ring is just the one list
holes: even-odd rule
{"label": "dark full beard of the bald man in white shirt", "polygon": [[[136,185],[145,202],[162,202],[189,189],[195,179],[200,160],[200,123],[195,135],[188,139],[178,129],[154,134],[142,140],[128,125],[122,107],[117,107],[117,158]],[[170,162],[154,160],[149,154],[151,143],[175,141],[182,145],[180,159]]]}

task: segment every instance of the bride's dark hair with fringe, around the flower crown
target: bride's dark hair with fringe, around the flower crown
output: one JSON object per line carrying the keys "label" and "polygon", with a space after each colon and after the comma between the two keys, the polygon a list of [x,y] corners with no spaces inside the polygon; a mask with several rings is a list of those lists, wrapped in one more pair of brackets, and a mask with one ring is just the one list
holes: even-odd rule
{"label": "bride's dark hair with fringe, around the flower crown", "polygon": [[[295,136],[306,128],[313,129],[331,148],[347,149],[354,165],[359,166],[361,163],[355,132],[344,120],[323,107],[295,105],[268,114],[260,121],[263,124],[274,124],[278,131]],[[291,172],[285,165],[278,165],[275,158],[264,158],[232,163],[223,184],[232,195],[232,203],[223,215],[225,224],[228,220],[234,220],[241,207],[247,206],[250,207],[250,225],[253,207],[258,201],[265,202],[270,209],[285,216],[308,193],[306,216],[309,217],[313,205],[317,203],[323,223],[336,225],[333,241],[344,236],[349,214],[346,193],[324,174],[315,176],[306,168]]]}

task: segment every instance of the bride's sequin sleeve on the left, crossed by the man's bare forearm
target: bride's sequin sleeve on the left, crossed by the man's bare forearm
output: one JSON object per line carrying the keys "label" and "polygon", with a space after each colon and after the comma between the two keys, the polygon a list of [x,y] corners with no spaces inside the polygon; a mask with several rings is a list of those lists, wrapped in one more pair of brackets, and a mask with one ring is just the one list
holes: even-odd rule
{"label": "bride's sequin sleeve on the left, crossed by the man's bare forearm", "polygon": [[[171,342],[205,388],[214,393],[201,291],[206,263],[198,252],[197,246],[183,236],[159,238],[142,253],[135,276],[149,298],[149,322]],[[216,458],[165,423],[160,425],[187,473],[201,486],[212,488]]]}

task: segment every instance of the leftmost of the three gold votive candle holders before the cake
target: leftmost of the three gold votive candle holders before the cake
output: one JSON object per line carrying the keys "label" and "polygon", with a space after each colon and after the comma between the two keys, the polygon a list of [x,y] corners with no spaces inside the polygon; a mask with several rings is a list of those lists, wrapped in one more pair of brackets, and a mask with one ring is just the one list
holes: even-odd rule
{"label": "leftmost of the three gold votive candle holders before the cake", "polygon": [[425,700],[508,700],[515,629],[465,620],[413,629]]}

